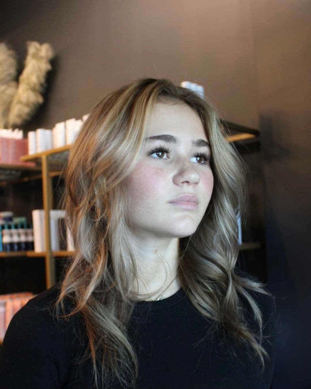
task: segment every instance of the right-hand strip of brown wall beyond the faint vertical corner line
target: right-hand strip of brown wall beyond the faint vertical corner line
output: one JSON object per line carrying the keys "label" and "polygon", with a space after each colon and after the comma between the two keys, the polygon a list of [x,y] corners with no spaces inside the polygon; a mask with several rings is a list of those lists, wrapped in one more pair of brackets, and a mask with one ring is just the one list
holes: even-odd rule
{"label": "right-hand strip of brown wall beyond the faint vertical corner line", "polygon": [[282,307],[280,388],[310,388],[311,3],[253,0],[267,273]]}

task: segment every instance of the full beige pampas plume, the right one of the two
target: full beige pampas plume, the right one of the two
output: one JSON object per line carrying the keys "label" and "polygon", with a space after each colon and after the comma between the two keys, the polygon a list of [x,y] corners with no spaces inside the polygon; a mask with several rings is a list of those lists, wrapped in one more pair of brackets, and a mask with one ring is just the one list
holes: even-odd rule
{"label": "full beige pampas plume, the right one of the two", "polygon": [[43,103],[42,92],[46,86],[47,72],[52,68],[50,60],[53,56],[54,52],[50,44],[27,42],[25,67],[19,76],[17,92],[10,106],[7,121],[9,127],[21,126]]}

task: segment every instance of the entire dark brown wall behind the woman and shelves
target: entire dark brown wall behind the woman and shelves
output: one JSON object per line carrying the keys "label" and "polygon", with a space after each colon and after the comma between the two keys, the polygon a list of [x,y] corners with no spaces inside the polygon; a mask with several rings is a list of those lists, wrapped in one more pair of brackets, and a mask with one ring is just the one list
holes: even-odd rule
{"label": "entire dark brown wall behind the woman and shelves", "polygon": [[[252,207],[265,216],[262,268],[267,256],[268,286],[282,309],[273,389],[310,387],[310,2],[7,3],[0,40],[21,60],[26,40],[50,42],[56,52],[46,101],[26,130],[81,117],[110,91],[148,76],[202,84],[222,119],[262,131],[262,152],[245,158]],[[260,217],[254,229],[262,231],[259,224]]]}

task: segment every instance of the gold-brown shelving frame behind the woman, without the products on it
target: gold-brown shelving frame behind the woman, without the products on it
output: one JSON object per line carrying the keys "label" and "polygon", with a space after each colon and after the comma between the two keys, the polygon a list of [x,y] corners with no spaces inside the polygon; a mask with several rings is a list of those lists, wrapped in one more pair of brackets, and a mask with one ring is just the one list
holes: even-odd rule
{"label": "gold-brown shelving frame behind the woman, without the products on it", "polygon": [[[224,121],[220,119],[224,128],[229,130],[230,135],[227,136],[228,142],[242,142],[242,141],[255,141],[260,140],[260,131],[246,126],[241,126],[235,123]],[[20,158],[21,161],[34,161],[36,166],[24,166],[24,165],[4,165],[0,164],[1,171],[18,171],[23,172],[18,177],[17,175],[11,175],[8,173],[7,179],[2,179],[0,186],[6,186],[14,184],[15,182],[29,181],[34,179],[42,179],[43,189],[43,208],[45,210],[45,243],[48,247],[46,252],[34,252],[34,251],[22,251],[22,252],[10,252],[0,253],[0,258],[8,258],[13,256],[25,256],[25,257],[40,257],[45,258],[45,280],[46,288],[49,289],[56,282],[55,279],[55,263],[53,261],[56,257],[70,257],[73,252],[70,251],[51,251],[51,239],[50,239],[50,209],[52,203],[52,177],[58,176],[63,171],[66,165],[68,154],[70,152],[71,145],[59,147],[57,149],[51,149],[44,152],[40,152],[32,155],[25,155]],[[30,174],[31,173],[31,174]],[[39,174],[38,174],[39,173]],[[249,242],[241,245],[241,250],[253,250],[262,247],[262,242]]]}

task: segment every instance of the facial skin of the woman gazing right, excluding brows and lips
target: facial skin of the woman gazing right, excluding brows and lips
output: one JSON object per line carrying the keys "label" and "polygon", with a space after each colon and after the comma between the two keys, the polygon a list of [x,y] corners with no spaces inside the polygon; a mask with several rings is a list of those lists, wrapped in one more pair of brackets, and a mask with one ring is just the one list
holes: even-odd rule
{"label": "facial skin of the woman gazing right, excluding brows and lips", "polygon": [[[152,112],[147,138],[169,135],[176,142],[147,140],[135,169],[128,176],[130,230],[136,238],[182,238],[192,235],[210,202],[213,173],[206,145],[192,141],[207,138],[198,114],[186,104],[157,103]],[[168,139],[169,140],[169,139]],[[201,142],[204,143],[204,142]],[[164,148],[166,151],[150,151]],[[172,203],[178,196],[196,195],[191,209]]]}

